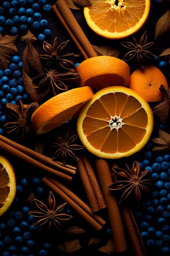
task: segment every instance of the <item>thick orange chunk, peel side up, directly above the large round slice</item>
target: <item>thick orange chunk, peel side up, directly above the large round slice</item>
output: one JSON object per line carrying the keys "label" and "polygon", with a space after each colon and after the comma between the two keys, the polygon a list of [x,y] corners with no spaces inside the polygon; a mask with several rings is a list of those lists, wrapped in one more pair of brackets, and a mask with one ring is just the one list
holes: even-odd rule
{"label": "thick orange chunk, peel side up, directly above the large round slice", "polygon": [[76,70],[79,73],[79,86],[90,86],[101,90],[109,86],[128,86],[130,69],[125,61],[111,56],[88,58],[80,63]]}

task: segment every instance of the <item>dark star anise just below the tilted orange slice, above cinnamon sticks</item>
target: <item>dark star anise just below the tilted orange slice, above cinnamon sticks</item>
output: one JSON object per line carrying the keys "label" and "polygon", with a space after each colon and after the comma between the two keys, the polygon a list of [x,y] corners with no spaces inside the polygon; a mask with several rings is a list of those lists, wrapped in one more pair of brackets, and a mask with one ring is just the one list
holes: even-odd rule
{"label": "dark star anise just below the tilted orange slice, above cinnamon sticks", "polygon": [[55,160],[59,155],[62,155],[63,163],[66,164],[66,158],[68,155],[73,157],[76,161],[79,158],[73,152],[74,150],[84,149],[84,146],[75,144],[74,141],[78,138],[78,134],[69,137],[68,128],[64,134],[64,137],[58,133],[55,135],[55,142],[51,142],[50,145],[57,148],[52,159]]}

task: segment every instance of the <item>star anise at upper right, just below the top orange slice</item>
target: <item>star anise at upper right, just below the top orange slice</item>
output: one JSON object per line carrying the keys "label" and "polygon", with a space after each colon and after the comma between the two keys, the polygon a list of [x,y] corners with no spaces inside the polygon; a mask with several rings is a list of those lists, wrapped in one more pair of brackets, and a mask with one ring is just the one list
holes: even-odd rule
{"label": "star anise at upper right, just below the top orange slice", "polygon": [[150,51],[146,50],[154,44],[154,42],[146,43],[146,40],[147,40],[146,33],[147,32],[145,31],[144,34],[141,35],[141,37],[139,38],[139,42],[137,42],[135,37],[132,36],[133,43],[131,42],[121,43],[121,45],[130,49],[130,51],[125,54],[123,61],[130,61],[132,58],[136,58],[139,66],[144,67],[144,57],[154,58],[154,55]]}

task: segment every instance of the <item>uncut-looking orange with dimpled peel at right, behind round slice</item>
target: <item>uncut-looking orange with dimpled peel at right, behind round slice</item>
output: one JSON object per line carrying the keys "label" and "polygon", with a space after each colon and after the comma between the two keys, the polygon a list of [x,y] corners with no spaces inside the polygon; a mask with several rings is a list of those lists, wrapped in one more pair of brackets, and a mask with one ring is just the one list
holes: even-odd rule
{"label": "uncut-looking orange with dimpled peel at right, behind round slice", "polygon": [[147,102],[157,102],[163,100],[163,94],[159,90],[161,85],[168,89],[166,77],[161,70],[150,65],[136,69],[130,76],[128,87]]}

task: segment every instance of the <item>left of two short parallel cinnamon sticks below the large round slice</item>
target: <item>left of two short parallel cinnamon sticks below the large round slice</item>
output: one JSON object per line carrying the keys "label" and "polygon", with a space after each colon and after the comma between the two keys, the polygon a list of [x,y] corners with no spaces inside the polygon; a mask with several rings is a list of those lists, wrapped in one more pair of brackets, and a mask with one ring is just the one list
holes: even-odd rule
{"label": "left of two short parallel cinnamon sticks below the large round slice", "polygon": [[79,158],[79,161],[77,162],[77,170],[79,172],[80,179],[82,180],[84,190],[86,192],[86,196],[88,198],[88,202],[90,204],[91,210],[93,212],[99,211],[99,206],[97,204],[97,198],[95,197],[95,193],[93,191],[93,188],[91,186],[91,182],[88,178],[88,175],[86,173],[86,169],[84,167],[84,164],[83,164],[81,158]]}

